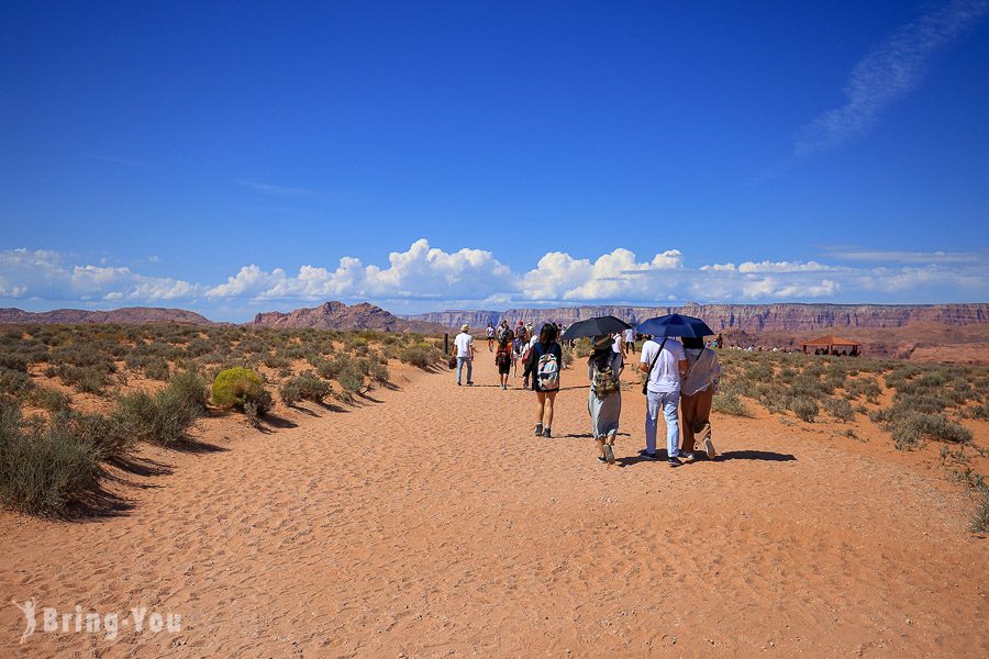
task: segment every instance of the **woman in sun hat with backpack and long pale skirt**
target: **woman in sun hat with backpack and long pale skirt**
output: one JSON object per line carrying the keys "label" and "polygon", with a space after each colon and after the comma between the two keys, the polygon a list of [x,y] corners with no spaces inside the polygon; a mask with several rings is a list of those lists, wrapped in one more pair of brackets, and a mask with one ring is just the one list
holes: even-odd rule
{"label": "woman in sun hat with backpack and long pale skirt", "polygon": [[611,337],[597,337],[587,360],[587,377],[591,382],[587,412],[591,417],[591,434],[598,443],[598,460],[611,465],[614,465],[614,436],[622,415],[622,368],[624,359],[612,349]]}

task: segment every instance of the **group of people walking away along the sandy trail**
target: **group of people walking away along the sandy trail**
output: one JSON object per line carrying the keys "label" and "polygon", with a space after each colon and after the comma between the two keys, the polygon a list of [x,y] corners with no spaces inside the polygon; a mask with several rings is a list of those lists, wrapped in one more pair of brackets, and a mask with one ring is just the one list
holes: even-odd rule
{"label": "group of people walking away along the sandy trail", "polygon": [[[523,362],[523,387],[536,394],[534,435],[552,437],[554,404],[559,391],[563,348],[558,343],[559,326],[546,323],[537,335],[532,325],[520,321],[515,330],[502,321],[493,330],[497,345],[496,365],[502,389],[508,388],[508,375]],[[463,366],[467,366],[467,384],[471,381],[474,337],[464,325],[454,339],[457,350],[457,386],[462,383]],[[634,354],[632,331],[594,338],[587,360],[590,380],[587,409],[591,432],[597,442],[598,460],[614,463],[614,440],[622,411],[621,373],[625,357]],[[711,402],[721,378],[718,355],[701,338],[649,338],[643,344],[638,370],[644,376],[642,392],[646,396],[645,448],[640,456],[660,459],[657,451],[659,418],[666,425],[666,457],[671,467],[692,462],[700,446],[709,458],[716,455],[711,437]],[[681,433],[682,429],[682,433]],[[682,459],[681,459],[682,458]]]}

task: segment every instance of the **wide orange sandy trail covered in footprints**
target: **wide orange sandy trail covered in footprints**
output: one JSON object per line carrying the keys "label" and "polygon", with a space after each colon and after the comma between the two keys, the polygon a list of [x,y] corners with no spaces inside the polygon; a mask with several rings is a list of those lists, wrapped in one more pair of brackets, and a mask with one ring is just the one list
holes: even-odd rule
{"label": "wide orange sandy trail covered in footprints", "polygon": [[[942,477],[765,418],[716,418],[722,460],[640,461],[634,388],[605,467],[582,369],[536,439],[491,361],[474,388],[415,372],[271,434],[230,420],[205,436],[226,450],[149,451],[174,473],[135,477],[121,516],[0,513],[0,655],[989,656],[989,552]],[[19,645],[30,596],[182,629],[38,619]]]}

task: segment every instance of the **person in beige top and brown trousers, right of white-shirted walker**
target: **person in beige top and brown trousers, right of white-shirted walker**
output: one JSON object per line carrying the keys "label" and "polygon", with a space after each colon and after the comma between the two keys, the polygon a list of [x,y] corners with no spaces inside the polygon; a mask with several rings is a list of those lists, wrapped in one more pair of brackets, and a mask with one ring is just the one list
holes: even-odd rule
{"label": "person in beige top and brown trousers, right of white-shirted walker", "polygon": [[680,422],[684,425],[684,444],[680,453],[687,462],[694,460],[694,443],[703,442],[709,458],[714,458],[714,442],[711,439],[711,400],[721,378],[718,355],[704,348],[700,338],[684,337],[684,353],[687,356],[687,375],[680,383]]}

